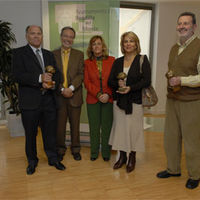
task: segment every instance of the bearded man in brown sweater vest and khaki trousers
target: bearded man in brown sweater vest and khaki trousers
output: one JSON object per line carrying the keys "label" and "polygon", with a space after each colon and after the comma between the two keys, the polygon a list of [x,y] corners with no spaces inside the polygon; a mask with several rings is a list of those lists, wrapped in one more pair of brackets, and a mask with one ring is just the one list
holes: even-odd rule
{"label": "bearded man in brown sweater vest and khaki trousers", "polygon": [[200,39],[193,13],[178,17],[179,41],[170,51],[168,93],[164,130],[167,169],[158,178],[181,176],[182,140],[189,179],[186,188],[194,189],[200,179]]}

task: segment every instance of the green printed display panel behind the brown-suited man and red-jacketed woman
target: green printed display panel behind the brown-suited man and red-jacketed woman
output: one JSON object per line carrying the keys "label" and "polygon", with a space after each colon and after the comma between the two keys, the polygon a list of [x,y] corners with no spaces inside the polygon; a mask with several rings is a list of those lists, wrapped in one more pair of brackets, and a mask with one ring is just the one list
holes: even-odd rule
{"label": "green printed display panel behind the brown-suited man and red-jacketed woman", "polygon": [[[101,35],[112,56],[118,55],[118,30],[119,30],[119,0],[97,1],[50,1],[49,32],[50,49],[60,46],[59,33],[62,27],[72,26],[76,31],[73,47],[84,52],[89,40],[94,35]],[[86,99],[84,89],[84,97]],[[81,123],[87,123],[86,105],[81,112]]]}

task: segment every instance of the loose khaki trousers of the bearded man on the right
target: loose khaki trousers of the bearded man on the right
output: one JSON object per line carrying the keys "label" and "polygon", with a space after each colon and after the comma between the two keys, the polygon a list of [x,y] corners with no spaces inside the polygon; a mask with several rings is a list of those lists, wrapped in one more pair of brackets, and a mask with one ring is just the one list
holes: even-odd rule
{"label": "loose khaki trousers of the bearded man on the right", "polygon": [[167,99],[164,147],[167,170],[181,172],[182,140],[185,149],[188,175],[200,178],[200,100],[183,102]]}

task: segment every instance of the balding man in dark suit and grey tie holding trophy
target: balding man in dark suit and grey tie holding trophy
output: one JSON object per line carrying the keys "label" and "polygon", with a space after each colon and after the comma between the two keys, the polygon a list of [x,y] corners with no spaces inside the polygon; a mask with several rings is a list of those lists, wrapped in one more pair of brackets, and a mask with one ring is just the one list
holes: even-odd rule
{"label": "balding man in dark suit and grey tie holding trophy", "polygon": [[[28,26],[26,28],[28,44],[13,51],[13,76],[19,85],[19,107],[25,129],[28,175],[35,172],[38,163],[36,136],[39,125],[49,165],[58,170],[65,169],[58,160],[56,152],[54,93],[60,75],[53,54],[41,48],[42,38],[41,27]],[[54,67],[54,74],[45,72],[45,66],[48,65]]]}

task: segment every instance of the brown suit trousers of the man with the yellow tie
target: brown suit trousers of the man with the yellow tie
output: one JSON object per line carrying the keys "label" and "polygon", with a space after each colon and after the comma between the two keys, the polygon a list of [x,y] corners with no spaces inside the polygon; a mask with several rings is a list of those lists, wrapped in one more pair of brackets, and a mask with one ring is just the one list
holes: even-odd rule
{"label": "brown suit trousers of the man with the yellow tie", "polygon": [[72,153],[80,152],[80,115],[81,106],[72,107],[69,105],[67,98],[60,98],[61,106],[58,110],[57,118],[57,151],[64,155],[66,151],[66,123],[69,119],[70,136],[71,136],[71,151]]}

